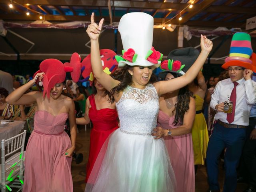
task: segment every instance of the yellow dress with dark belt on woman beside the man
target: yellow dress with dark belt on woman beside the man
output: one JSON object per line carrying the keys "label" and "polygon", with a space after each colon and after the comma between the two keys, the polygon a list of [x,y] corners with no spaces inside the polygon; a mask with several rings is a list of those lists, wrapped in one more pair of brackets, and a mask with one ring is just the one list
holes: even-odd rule
{"label": "yellow dress with dark belt on woman beside the man", "polygon": [[[198,96],[195,96],[196,111],[202,110],[204,100]],[[209,142],[207,124],[204,115],[201,113],[196,114],[192,129],[192,141],[194,148],[194,160],[195,165],[204,165],[204,158],[206,158],[206,149]]]}

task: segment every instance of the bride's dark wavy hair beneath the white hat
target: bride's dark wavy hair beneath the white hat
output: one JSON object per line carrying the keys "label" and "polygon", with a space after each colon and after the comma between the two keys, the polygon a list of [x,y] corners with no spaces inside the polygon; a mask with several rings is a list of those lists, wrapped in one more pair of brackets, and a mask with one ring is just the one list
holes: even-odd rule
{"label": "bride's dark wavy hair beneath the white hat", "polygon": [[[128,72],[128,70],[132,70],[132,68],[134,68],[134,67],[136,67],[136,66],[130,66],[130,65],[126,64],[120,70],[116,70],[111,75],[114,79],[121,81],[120,84],[118,84],[118,86],[115,86],[114,88],[112,88],[110,90],[110,92],[108,93],[109,101],[111,103],[114,103],[114,101],[115,101],[115,99],[114,99],[115,93],[119,93],[119,92],[123,91],[128,85],[132,84],[132,76]],[[154,83],[154,82],[156,82],[156,77],[152,74],[148,83]]]}

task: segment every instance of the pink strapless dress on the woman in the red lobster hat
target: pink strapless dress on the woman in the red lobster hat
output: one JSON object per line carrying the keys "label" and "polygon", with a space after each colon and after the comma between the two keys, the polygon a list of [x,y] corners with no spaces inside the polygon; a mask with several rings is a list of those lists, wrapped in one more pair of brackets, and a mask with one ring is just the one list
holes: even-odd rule
{"label": "pink strapless dress on the woman in the red lobster hat", "polygon": [[67,113],[53,116],[37,111],[25,153],[23,192],[72,192],[72,158],[62,156],[71,146],[64,125]]}

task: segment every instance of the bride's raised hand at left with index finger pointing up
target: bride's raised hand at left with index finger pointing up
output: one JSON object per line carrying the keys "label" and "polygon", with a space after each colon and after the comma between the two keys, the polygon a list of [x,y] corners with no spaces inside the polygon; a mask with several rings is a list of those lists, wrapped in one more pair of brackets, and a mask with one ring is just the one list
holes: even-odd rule
{"label": "bride's raised hand at left with index finger pointing up", "polygon": [[94,13],[91,15],[91,24],[88,25],[88,28],[86,30],[88,36],[90,37],[91,40],[97,40],[100,36],[102,24],[103,24],[104,19],[101,19],[99,22],[99,25],[97,25],[94,22]]}

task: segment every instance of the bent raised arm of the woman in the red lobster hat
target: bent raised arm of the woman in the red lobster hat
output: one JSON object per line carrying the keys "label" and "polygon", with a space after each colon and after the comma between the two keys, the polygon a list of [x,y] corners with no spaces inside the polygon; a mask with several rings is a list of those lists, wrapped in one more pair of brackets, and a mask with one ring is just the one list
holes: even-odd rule
{"label": "bent raised arm of the woman in the red lobster hat", "polygon": [[[39,76],[39,79],[41,80],[43,78],[43,74],[44,73],[38,73],[36,74],[36,76]],[[36,76],[34,79],[30,80],[29,82],[9,94],[6,97],[6,102],[12,105],[26,105],[36,102],[36,99],[41,96],[42,93],[38,91],[33,91],[24,94],[30,87],[34,85]]]}

